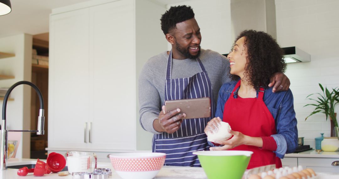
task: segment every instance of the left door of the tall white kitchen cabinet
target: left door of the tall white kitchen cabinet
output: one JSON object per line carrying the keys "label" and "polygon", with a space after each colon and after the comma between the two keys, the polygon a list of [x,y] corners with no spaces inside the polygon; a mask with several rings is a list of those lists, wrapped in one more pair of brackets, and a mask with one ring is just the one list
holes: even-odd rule
{"label": "left door of the tall white kitchen cabinet", "polygon": [[86,144],[84,123],[90,121],[88,15],[89,9],[79,9],[51,16],[48,147]]}

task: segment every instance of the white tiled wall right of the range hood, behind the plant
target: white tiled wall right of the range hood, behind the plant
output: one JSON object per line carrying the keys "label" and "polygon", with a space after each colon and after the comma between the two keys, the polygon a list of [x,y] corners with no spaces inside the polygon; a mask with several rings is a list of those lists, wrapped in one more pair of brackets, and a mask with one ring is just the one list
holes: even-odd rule
{"label": "white tiled wall right of the range hood, behind the plant", "polygon": [[[299,137],[305,145],[315,147],[320,133],[330,136],[330,119],[316,114],[305,121],[313,107],[303,107],[312,93],[321,93],[318,83],[339,86],[339,1],[337,0],[275,0],[277,40],[281,47],[297,46],[311,54],[311,62],[287,65],[291,80]],[[339,113],[339,106],[336,107]]]}

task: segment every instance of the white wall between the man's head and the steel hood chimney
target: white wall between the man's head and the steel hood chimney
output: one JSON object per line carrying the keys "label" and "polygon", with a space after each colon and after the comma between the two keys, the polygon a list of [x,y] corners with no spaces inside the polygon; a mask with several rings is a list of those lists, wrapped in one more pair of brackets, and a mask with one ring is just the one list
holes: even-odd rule
{"label": "white wall between the man's head and the steel hood chimney", "polygon": [[[220,54],[230,52],[234,41],[231,39],[230,0],[190,0],[167,4],[167,9],[177,5],[192,7],[202,36],[201,48],[211,49]],[[171,48],[171,44],[168,43],[168,50]]]}

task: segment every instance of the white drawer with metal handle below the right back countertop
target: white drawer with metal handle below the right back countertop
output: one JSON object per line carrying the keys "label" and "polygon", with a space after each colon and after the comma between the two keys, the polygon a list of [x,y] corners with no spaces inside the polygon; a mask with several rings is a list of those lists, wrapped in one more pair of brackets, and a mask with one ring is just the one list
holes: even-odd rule
{"label": "white drawer with metal handle below the right back countertop", "polygon": [[303,168],[312,168],[315,172],[339,173],[339,166],[333,166],[332,162],[339,158],[298,158],[298,164]]}

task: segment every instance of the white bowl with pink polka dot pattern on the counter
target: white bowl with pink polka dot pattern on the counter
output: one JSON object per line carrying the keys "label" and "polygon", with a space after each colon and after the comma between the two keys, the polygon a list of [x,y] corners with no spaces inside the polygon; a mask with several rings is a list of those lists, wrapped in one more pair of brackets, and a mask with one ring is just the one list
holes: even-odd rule
{"label": "white bowl with pink polka dot pattern on the counter", "polygon": [[123,179],[152,179],[165,163],[165,153],[116,153],[109,155],[112,166]]}

